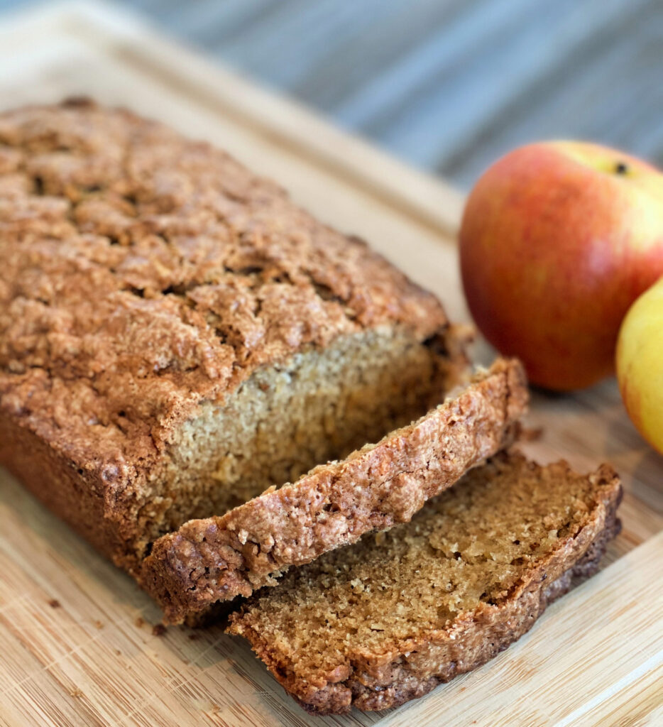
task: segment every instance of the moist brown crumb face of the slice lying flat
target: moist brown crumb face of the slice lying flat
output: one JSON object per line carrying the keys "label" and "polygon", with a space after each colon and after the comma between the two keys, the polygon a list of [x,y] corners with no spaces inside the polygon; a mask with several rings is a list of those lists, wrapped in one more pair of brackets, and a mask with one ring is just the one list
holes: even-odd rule
{"label": "moist brown crumb face of the slice lying flat", "polygon": [[352,661],[358,648],[387,652],[499,603],[529,566],[579,531],[593,497],[590,479],[561,465],[489,463],[410,523],[292,569],[246,606],[236,627],[308,675]]}

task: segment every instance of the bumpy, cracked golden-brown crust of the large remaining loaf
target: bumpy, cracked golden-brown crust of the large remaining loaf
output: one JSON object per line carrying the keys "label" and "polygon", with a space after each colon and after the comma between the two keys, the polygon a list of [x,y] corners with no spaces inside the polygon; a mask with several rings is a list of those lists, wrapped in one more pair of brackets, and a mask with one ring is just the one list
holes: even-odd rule
{"label": "bumpy, cracked golden-brown crust of the large remaining loaf", "polygon": [[0,412],[71,476],[0,461],[69,521],[94,510],[116,562],[201,402],[382,325],[449,329],[435,297],[224,152],[84,100],[0,115]]}

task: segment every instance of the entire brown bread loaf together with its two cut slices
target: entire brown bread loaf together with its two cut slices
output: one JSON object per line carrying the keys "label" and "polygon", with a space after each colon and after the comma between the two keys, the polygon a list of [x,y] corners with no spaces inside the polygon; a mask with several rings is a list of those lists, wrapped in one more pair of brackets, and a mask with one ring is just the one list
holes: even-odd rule
{"label": "entire brown bread loaf together with its two cut slices", "polygon": [[526,404],[222,151],[87,100],[0,114],[0,464],[170,622],[235,609],[310,712],[425,694],[595,570],[608,467],[484,464]]}

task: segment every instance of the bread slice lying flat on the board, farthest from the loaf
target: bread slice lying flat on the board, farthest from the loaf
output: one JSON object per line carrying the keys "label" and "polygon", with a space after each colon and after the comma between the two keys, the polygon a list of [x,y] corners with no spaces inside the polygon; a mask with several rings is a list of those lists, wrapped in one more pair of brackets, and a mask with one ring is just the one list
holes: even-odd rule
{"label": "bread slice lying flat on the board, farthest from the loaf", "polygon": [[607,465],[500,454],[410,523],[292,569],[229,631],[309,712],[394,707],[487,662],[589,577],[620,496]]}

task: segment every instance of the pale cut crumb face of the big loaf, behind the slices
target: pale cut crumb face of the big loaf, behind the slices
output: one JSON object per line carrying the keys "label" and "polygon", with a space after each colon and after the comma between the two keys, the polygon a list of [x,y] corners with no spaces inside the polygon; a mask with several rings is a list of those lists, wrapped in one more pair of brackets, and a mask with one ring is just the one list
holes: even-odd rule
{"label": "pale cut crumb face of the big loaf, behind the slices", "polygon": [[405,332],[377,329],[258,370],[182,427],[148,532],[222,515],[417,419],[443,398],[445,361]]}

